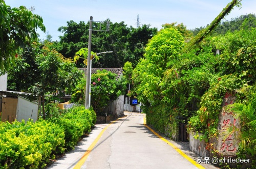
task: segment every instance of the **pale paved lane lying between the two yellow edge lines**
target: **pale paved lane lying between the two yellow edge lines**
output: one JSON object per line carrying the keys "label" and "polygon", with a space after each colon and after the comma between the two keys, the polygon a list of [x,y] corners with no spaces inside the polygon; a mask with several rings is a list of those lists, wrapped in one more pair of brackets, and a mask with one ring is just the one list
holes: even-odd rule
{"label": "pale paved lane lying between the two yellow edge lines", "polygon": [[110,125],[81,168],[198,168],[147,129],[144,116],[129,112]]}

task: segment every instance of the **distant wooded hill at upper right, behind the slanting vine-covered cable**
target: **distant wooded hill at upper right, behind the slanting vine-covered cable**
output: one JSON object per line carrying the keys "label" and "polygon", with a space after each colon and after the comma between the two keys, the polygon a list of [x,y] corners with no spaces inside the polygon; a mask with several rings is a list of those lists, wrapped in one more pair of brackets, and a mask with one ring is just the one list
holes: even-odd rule
{"label": "distant wooded hill at upper right, behind the slanting vine-covered cable", "polygon": [[[236,30],[241,30],[242,27],[250,29],[251,27],[256,27],[256,15],[255,14],[248,14],[248,15],[241,15],[240,17],[232,18],[231,21],[225,20],[222,21],[218,27],[212,32],[212,35],[224,35],[228,31],[234,32]],[[205,27],[196,27],[193,30],[194,36],[196,36],[202,29]]]}

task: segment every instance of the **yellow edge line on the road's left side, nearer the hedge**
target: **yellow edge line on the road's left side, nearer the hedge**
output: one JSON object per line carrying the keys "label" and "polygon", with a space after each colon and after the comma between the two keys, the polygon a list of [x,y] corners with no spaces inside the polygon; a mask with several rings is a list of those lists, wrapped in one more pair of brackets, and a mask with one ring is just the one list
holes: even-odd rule
{"label": "yellow edge line on the road's left side, nearer the hedge", "polygon": [[[124,118],[124,117],[122,117]],[[121,118],[118,118],[116,121],[118,121]],[[76,163],[76,165],[74,166],[73,169],[80,169],[81,166],[83,165],[84,162],[86,162],[88,156],[90,155],[90,153],[92,152],[93,148],[96,146],[96,144],[98,143],[100,137],[102,136],[102,134],[104,133],[104,131],[109,128],[110,125],[112,125],[113,123],[115,123],[116,121],[111,122],[108,126],[106,126],[105,128],[103,128],[101,130],[101,132],[99,133],[99,135],[96,137],[96,139],[93,141],[93,143],[90,145],[90,147],[87,149],[87,151],[83,154],[83,156],[80,158],[80,160]]]}

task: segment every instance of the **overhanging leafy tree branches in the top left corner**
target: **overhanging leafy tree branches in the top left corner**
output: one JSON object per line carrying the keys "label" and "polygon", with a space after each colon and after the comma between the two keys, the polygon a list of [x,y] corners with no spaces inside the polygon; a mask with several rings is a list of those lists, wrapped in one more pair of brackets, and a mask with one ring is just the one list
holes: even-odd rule
{"label": "overhanging leafy tree branches in the top left corner", "polygon": [[44,32],[46,29],[42,18],[24,6],[11,9],[1,0],[0,9],[0,70],[5,71],[15,59],[16,50],[25,46],[26,38],[35,40],[36,29]]}

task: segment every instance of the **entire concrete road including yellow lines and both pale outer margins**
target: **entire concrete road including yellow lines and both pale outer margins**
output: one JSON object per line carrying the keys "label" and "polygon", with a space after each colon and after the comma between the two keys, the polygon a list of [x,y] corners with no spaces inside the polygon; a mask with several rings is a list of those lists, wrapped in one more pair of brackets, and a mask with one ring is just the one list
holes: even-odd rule
{"label": "entire concrete road including yellow lines and both pale outer margins", "polygon": [[187,143],[154,134],[144,125],[144,114],[125,115],[112,124],[97,124],[74,151],[48,168],[216,168],[197,164],[199,156],[188,150]]}

